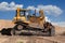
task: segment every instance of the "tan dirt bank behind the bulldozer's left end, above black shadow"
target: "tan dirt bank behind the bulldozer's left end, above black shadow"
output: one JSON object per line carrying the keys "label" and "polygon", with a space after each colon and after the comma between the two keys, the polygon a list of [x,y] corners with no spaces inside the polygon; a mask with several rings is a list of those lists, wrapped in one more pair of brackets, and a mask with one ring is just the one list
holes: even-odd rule
{"label": "tan dirt bank behind the bulldozer's left end, above black shadow", "polygon": [[3,28],[12,28],[14,24],[12,23],[12,20],[0,19],[0,30],[2,30]]}

